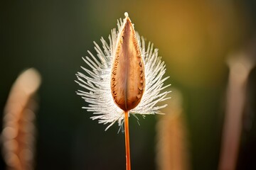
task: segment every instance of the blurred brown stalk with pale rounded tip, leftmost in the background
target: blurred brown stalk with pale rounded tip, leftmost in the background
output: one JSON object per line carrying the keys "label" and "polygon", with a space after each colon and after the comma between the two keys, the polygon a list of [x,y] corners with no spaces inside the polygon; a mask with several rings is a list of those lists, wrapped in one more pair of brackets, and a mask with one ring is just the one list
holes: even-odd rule
{"label": "blurred brown stalk with pale rounded tip, leftmost in the background", "polygon": [[34,120],[38,107],[34,95],[40,84],[41,76],[36,69],[27,69],[11,88],[4,108],[4,129],[1,133],[6,169],[33,169]]}

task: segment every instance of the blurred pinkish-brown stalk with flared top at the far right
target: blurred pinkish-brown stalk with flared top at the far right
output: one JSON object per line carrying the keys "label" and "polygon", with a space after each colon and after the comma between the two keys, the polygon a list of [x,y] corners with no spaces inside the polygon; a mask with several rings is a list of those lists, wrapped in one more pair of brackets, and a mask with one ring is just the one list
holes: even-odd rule
{"label": "blurred pinkish-brown stalk with flared top at the far right", "polygon": [[228,58],[230,69],[226,94],[226,110],[220,150],[219,170],[235,170],[245,108],[246,87],[250,71],[256,64],[256,36],[244,50]]}

